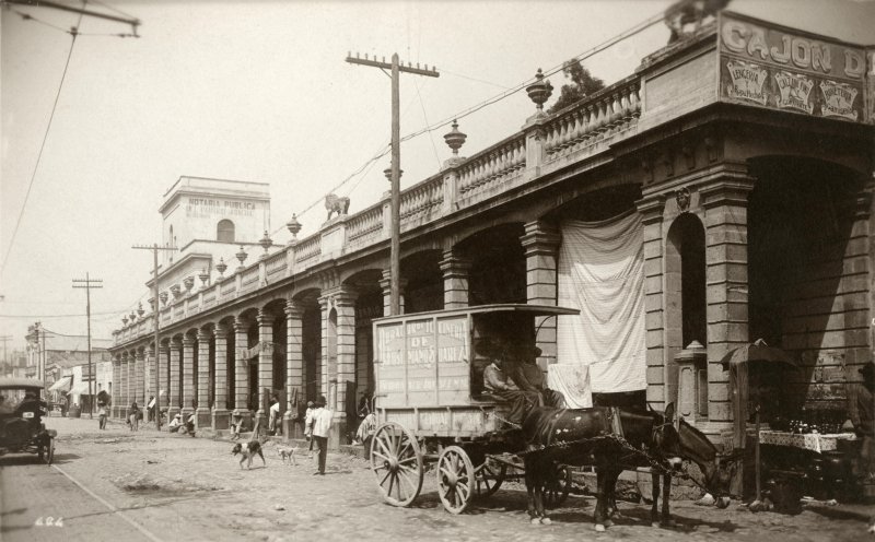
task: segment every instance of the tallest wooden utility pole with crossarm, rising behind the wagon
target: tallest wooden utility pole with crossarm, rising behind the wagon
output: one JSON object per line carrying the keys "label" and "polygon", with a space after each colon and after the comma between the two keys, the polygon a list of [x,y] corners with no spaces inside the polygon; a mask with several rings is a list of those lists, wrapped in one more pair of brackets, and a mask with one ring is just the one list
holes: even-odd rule
{"label": "tallest wooden utility pole with crossarm, rising behind the wagon", "polygon": [[347,56],[347,62],[352,64],[371,66],[380,68],[381,70],[392,70],[392,245],[389,255],[389,311],[392,315],[399,315],[401,313],[401,290],[400,290],[400,275],[401,275],[401,128],[400,128],[400,98],[398,96],[398,75],[400,72],[415,73],[417,75],[425,75],[429,78],[438,78],[438,69],[425,64],[423,69],[417,63],[416,67],[407,62],[407,66],[398,62],[398,54],[392,56],[392,62],[377,61],[376,57],[373,60],[368,58],[352,58],[352,54]]}

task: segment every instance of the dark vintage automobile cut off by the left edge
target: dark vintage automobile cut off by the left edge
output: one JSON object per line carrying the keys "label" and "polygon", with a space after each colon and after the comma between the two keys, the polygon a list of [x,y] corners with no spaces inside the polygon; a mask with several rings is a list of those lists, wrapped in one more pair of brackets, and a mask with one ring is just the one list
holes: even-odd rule
{"label": "dark vintage automobile cut off by the left edge", "polygon": [[48,404],[40,398],[44,390],[42,380],[0,378],[0,456],[36,453],[51,464],[58,433],[43,422],[48,416]]}

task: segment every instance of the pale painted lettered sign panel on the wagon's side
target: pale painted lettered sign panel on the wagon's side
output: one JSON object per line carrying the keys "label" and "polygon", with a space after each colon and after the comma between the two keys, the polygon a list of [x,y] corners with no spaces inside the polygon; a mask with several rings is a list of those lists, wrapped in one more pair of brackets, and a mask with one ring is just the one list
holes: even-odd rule
{"label": "pale painted lettered sign panel on the wagon's side", "polygon": [[380,406],[467,404],[470,397],[467,316],[378,323],[375,337]]}

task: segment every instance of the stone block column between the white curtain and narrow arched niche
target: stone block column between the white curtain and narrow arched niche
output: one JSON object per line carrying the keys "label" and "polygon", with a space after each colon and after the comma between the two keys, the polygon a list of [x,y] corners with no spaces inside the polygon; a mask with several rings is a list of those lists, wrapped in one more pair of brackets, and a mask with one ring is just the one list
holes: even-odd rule
{"label": "stone block column between the white curtain and narrow arched niche", "polygon": [[645,196],[635,202],[641,213],[644,244],[644,325],[646,334],[648,403],[656,410],[666,406],[666,372],[670,360],[665,352],[665,309],[663,305],[663,210],[665,196]]}

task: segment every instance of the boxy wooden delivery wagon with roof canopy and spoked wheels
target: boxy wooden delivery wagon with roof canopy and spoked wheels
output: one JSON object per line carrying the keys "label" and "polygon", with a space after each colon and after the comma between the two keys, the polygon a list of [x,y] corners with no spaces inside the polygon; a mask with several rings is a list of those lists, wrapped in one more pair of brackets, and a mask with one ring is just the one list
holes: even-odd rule
{"label": "boxy wooden delivery wagon with roof canopy and spoked wheels", "polygon": [[[374,320],[377,428],[371,467],[383,498],[409,506],[427,470],[434,468],[444,508],[464,511],[477,495],[491,495],[520,476],[522,443],[506,423],[510,405],[483,389],[490,358],[480,341],[534,345],[546,318],[576,309],[525,304],[481,305]],[[557,466],[548,502],[560,504],[571,471]]]}

